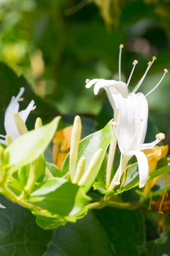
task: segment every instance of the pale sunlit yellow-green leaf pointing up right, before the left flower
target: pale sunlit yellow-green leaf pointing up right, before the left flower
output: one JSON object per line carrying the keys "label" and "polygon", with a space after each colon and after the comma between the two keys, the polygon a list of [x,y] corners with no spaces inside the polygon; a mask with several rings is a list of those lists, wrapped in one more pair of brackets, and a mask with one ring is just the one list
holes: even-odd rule
{"label": "pale sunlit yellow-green leaf pointing up right, before the left flower", "polygon": [[60,117],[40,129],[25,133],[5,149],[9,153],[10,173],[37,159],[54,136]]}

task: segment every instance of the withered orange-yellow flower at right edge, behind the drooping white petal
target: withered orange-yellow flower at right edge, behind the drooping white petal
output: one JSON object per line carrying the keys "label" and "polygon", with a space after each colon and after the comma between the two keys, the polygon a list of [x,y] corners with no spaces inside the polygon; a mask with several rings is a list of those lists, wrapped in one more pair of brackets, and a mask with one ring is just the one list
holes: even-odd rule
{"label": "withered orange-yellow flower at right edge, behind the drooping white petal", "polygon": [[[145,155],[147,156],[148,159],[148,165],[149,165],[149,173],[154,171],[157,168],[157,162],[160,161],[161,158],[166,157],[168,151],[169,151],[169,146],[155,146],[152,147],[151,149],[148,150],[142,150]],[[151,188],[157,183],[160,178],[163,177],[163,175],[160,175],[158,177],[155,177],[153,180],[149,180],[146,183],[144,193],[148,194],[150,192]]]}

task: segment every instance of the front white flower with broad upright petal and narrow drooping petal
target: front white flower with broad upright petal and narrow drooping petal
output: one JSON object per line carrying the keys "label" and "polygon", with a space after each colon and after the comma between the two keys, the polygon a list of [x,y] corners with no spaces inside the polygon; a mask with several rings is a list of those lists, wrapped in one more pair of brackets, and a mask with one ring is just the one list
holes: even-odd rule
{"label": "front white flower with broad upright petal and narrow drooping petal", "polygon": [[119,94],[114,96],[114,100],[119,115],[117,124],[113,127],[121,151],[121,160],[109,190],[119,185],[127,162],[134,155],[139,167],[139,187],[142,188],[148,179],[148,159],[142,150],[154,147],[165,138],[165,135],[160,133],[155,141],[144,144],[148,124],[148,102],[142,93],[131,93],[127,98]]}

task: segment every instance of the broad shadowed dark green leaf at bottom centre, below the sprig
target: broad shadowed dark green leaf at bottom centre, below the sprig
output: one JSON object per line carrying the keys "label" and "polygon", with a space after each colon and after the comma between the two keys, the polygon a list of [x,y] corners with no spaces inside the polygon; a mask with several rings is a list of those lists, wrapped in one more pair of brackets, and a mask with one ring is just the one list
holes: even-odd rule
{"label": "broad shadowed dark green leaf at bottom centre, below the sprig", "polygon": [[116,256],[105,228],[93,213],[57,228],[44,256]]}

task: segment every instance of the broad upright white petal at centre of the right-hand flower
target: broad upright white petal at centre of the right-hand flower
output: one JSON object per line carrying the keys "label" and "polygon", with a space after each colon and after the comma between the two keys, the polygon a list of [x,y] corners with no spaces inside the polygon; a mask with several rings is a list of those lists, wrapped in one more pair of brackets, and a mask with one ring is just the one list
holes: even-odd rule
{"label": "broad upright white petal at centre of the right-hand flower", "polygon": [[114,95],[116,109],[119,117],[116,127],[116,137],[119,149],[125,155],[130,150],[142,144],[148,123],[148,102],[145,96],[139,94],[129,94],[123,98],[121,94]]}

